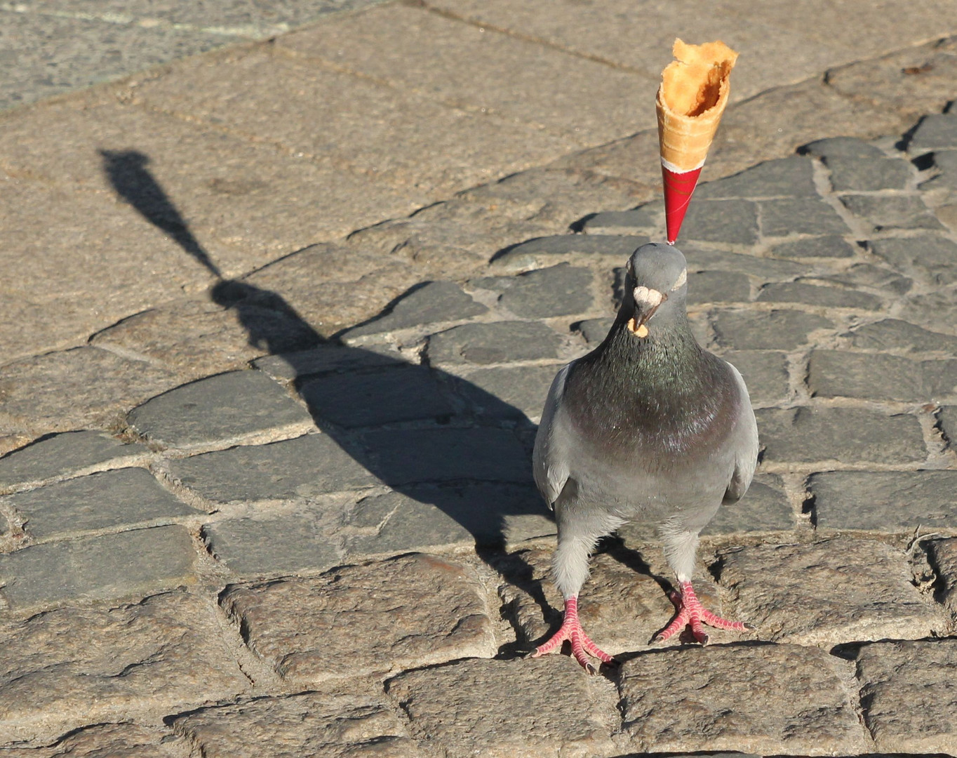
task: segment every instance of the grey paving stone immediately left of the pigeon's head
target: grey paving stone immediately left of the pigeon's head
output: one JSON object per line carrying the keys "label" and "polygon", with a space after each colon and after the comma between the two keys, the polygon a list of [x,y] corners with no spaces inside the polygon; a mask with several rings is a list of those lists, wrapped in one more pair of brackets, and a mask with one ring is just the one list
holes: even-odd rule
{"label": "grey paving stone immediately left of the pigeon's head", "polygon": [[520,319],[546,319],[588,311],[593,301],[591,280],[589,269],[559,263],[516,277],[472,279],[469,284],[501,293],[501,307]]}

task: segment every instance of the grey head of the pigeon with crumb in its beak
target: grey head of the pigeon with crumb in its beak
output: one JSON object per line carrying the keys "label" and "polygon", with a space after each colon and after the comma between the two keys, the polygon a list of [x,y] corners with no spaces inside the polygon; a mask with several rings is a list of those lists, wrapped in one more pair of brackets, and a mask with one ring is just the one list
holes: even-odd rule
{"label": "grey head of the pigeon with crumb in its beak", "polygon": [[683,314],[687,279],[687,263],[678,248],[649,242],[635,250],[628,259],[622,302],[625,315],[630,316],[629,331],[647,337],[652,317],[657,323],[671,323]]}

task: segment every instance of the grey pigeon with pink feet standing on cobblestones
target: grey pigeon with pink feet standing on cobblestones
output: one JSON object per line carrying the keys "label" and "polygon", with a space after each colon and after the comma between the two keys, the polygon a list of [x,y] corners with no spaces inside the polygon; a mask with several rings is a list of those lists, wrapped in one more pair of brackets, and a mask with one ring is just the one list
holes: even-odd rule
{"label": "grey pigeon with pink feet standing on cobblestones", "polygon": [[701,529],[723,502],[741,498],[754,474],[758,428],[736,368],[699,346],[685,308],[687,264],[671,245],[634,251],[625,295],[605,341],[555,376],[532,457],[535,482],[555,511],[552,578],[565,600],[561,628],[533,658],[571,643],[590,658],[614,659],[578,617],[578,593],[598,540],[623,524],[654,524],[674,570],[677,613],[654,641],[703,625],[753,630],[706,610],[691,586]]}

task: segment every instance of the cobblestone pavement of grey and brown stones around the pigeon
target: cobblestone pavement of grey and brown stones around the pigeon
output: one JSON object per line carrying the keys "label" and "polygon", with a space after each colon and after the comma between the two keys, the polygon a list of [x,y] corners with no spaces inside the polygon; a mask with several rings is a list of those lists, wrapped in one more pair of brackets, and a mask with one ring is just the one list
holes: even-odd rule
{"label": "cobblestone pavement of grey and brown stones around the pigeon", "polygon": [[696,589],[759,632],[647,644],[671,578],[629,526],[594,678],[522,658],[561,607],[529,454],[663,237],[655,133],[241,276],[104,151],[211,286],[0,369],[0,756],[957,753],[955,52],[729,108],[679,247],[763,449]]}

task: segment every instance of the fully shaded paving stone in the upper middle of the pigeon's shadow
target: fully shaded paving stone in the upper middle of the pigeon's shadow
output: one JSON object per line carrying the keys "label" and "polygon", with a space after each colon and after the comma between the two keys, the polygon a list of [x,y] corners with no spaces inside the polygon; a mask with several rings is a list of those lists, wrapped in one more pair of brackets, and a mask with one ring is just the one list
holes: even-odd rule
{"label": "fully shaded paving stone in the upper middle of the pigeon's shadow", "polygon": [[310,379],[300,396],[315,417],[345,429],[442,420],[455,412],[434,373],[421,366],[339,373]]}

